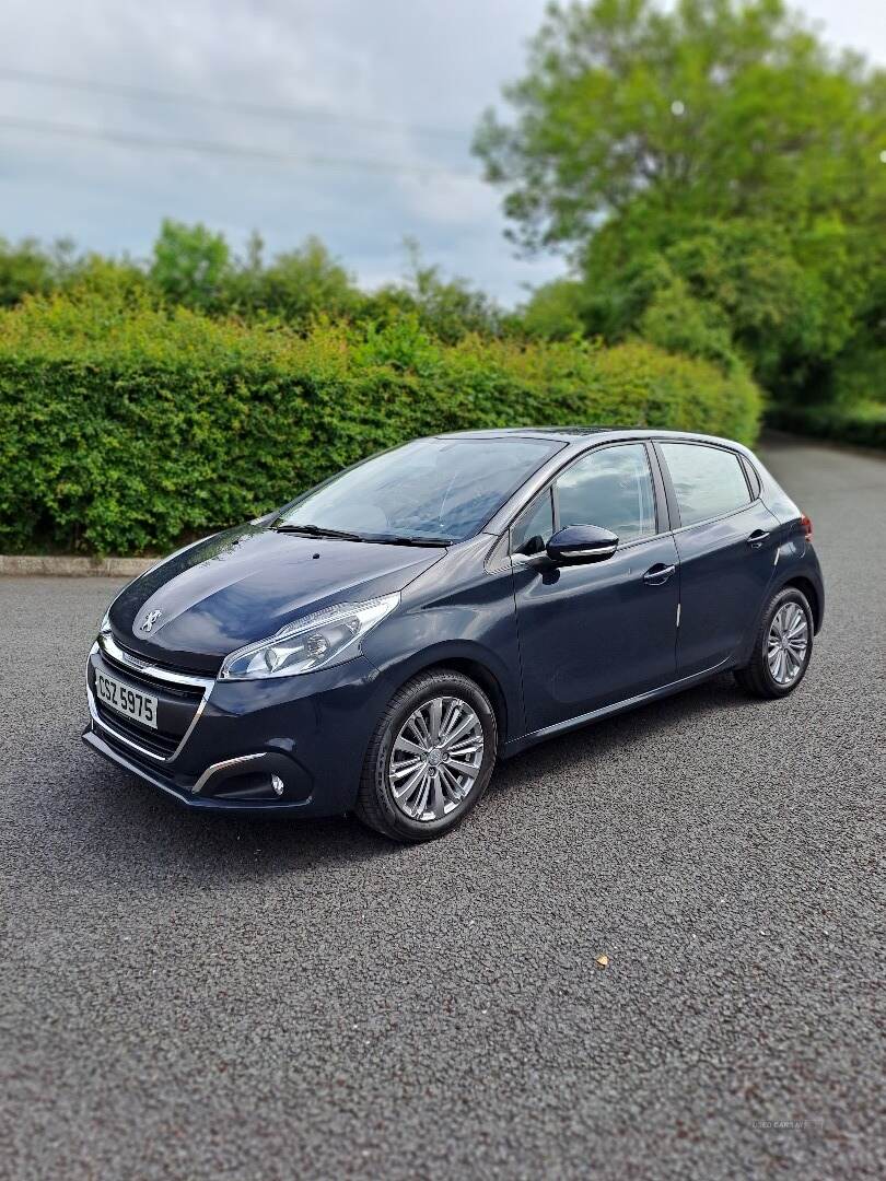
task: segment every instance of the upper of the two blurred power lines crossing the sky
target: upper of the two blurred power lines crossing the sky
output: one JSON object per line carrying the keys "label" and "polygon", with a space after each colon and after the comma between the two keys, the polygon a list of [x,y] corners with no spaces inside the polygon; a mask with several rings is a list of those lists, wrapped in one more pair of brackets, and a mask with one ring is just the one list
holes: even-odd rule
{"label": "upper of the two blurred power lines crossing the sky", "polygon": [[102,81],[93,78],[71,78],[60,74],[41,73],[35,70],[17,70],[0,65],[0,79],[19,81],[30,86],[44,86],[53,90],[79,90],[97,94],[116,94],[123,98],[145,99],[152,103],[172,103],[182,106],[203,106],[213,110],[232,111],[240,115],[258,116],[269,119],[297,119],[314,123],[343,123],[350,126],[372,128],[376,131],[410,132],[421,136],[438,136],[467,143],[470,131],[457,128],[428,126],[403,123],[396,119],[374,119],[361,115],[348,115],[343,111],[328,111],[310,106],[275,106],[263,103],[245,103],[227,98],[214,98],[184,91],[157,90],[152,86],[132,86],[128,83]]}

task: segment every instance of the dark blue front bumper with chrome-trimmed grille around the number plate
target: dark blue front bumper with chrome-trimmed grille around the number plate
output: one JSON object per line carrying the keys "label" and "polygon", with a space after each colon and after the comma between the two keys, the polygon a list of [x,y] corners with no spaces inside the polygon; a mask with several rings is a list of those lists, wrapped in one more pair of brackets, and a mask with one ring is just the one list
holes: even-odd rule
{"label": "dark blue front bumper with chrome-trimmed grille around the number plate", "polygon": [[[181,717],[175,703],[164,703],[163,678],[176,678],[175,693],[182,676],[144,661],[126,667],[126,658],[113,640],[90,653],[83,740],[91,750],[188,808],[327,816],[353,807],[366,748],[390,697],[365,657],[266,681],[191,678],[200,687]],[[157,694],[161,720],[170,718],[176,732],[142,733],[99,706],[93,686],[103,670]]]}

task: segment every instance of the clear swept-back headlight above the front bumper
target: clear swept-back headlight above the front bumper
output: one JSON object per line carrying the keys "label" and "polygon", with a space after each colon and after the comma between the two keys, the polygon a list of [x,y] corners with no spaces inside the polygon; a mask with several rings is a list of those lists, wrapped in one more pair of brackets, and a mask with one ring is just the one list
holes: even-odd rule
{"label": "clear swept-back headlight above the front bumper", "polygon": [[226,657],[220,680],[294,677],[350,660],[360,640],[400,601],[398,594],[366,602],[341,602],[282,627],[275,635]]}

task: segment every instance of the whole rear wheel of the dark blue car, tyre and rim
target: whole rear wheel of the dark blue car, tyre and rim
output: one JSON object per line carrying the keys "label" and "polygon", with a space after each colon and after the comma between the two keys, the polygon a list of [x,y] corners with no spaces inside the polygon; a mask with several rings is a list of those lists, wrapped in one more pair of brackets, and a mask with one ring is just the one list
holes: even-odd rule
{"label": "whole rear wheel of the dark blue car, tyre and rim", "polygon": [[754,697],[787,697],[806,676],[812,647],[809,601],[796,587],[784,587],[767,603],[750,663],[735,678]]}

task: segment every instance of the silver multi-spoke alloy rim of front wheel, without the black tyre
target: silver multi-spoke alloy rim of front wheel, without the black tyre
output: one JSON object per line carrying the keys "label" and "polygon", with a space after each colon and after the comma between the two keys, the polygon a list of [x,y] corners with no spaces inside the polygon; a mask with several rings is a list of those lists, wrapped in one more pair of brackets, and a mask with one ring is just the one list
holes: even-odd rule
{"label": "silver multi-spoke alloy rim of front wheel, without the black tyre", "polygon": [[413,710],[391,746],[387,779],[410,820],[435,821],[470,794],[483,763],[483,726],[460,697],[432,697]]}

